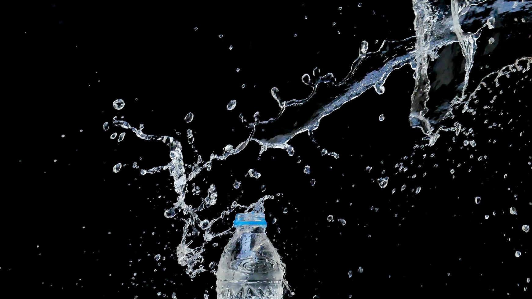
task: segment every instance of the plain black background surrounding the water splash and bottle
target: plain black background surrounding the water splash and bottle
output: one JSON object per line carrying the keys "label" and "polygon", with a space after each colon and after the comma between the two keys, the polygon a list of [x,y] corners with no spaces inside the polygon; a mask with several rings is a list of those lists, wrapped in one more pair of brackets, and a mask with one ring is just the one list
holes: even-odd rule
{"label": "plain black background surrounding the water splash and bottle", "polygon": [[[132,125],[144,124],[146,133],[177,136],[186,163],[194,163],[194,150],[205,159],[246,138],[249,129],[239,113],[248,120],[257,110],[261,117],[275,116],[272,87],[284,98],[306,97],[301,75],[314,67],[341,78],[362,40],[376,50],[383,39],[414,34],[408,1],[361,7],[49,3],[27,4],[16,13],[10,28],[16,41],[5,57],[13,66],[7,88],[14,90],[4,97],[4,148],[13,150],[4,159],[8,192],[1,210],[0,289],[6,298],[158,298],[157,292],[178,298],[207,292],[214,298],[212,273],[190,279],[173,258],[182,222],[163,216],[176,198],[168,173],[139,174],[140,168],[167,164],[168,148],[130,131],[118,143],[109,136],[125,130],[103,131],[102,124],[124,116]],[[265,205],[269,223],[278,219],[268,235],[287,264],[294,298],[522,297],[532,276],[530,233],[521,230],[532,225],[532,151],[530,82],[519,87],[500,95],[487,117],[461,119],[475,128],[476,148],[462,148],[463,137],[454,143],[454,133],[443,133],[434,147],[412,150],[422,144],[422,134],[409,126],[413,80],[403,68],[390,75],[383,95],[370,90],[323,118],[316,143],[296,136],[290,141],[293,157],[268,150],[257,159],[260,147],[250,144],[214,162],[211,172],[195,180],[202,195],[189,192],[187,202],[196,206],[215,184],[218,203],[202,214],[212,218],[234,200],[250,204],[281,193]],[[119,111],[111,105],[117,98],[126,102]],[[232,99],[238,104],[228,111]],[[194,120],[187,124],[188,112]],[[380,114],[385,121],[378,121]],[[505,130],[488,129],[485,118]],[[194,149],[186,129],[194,132]],[[340,158],[321,156],[323,148]],[[131,167],[134,161],[139,169]],[[115,174],[111,169],[119,162],[124,166]],[[396,174],[394,165],[401,162],[409,170]],[[310,174],[303,173],[305,165]],[[250,168],[262,176],[245,177]],[[376,183],[381,176],[390,177],[384,189]],[[240,189],[232,187],[235,180]],[[421,192],[411,192],[417,186]],[[476,196],[482,198],[478,205]],[[510,215],[510,207],[518,215]],[[335,221],[327,222],[328,215]],[[227,229],[231,217],[215,231]],[[205,268],[219,260],[227,239],[215,238],[218,247],[206,245]],[[514,257],[516,250],[521,257]],[[157,253],[166,258],[161,266],[153,260]]]}

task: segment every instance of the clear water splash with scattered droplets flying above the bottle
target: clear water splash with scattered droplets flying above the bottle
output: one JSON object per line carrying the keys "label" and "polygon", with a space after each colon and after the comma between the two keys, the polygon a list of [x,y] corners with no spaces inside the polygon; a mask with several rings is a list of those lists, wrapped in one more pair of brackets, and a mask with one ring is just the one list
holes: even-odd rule
{"label": "clear water splash with scattered droplets flying above the bottle", "polygon": [[[514,5],[516,3],[517,5]],[[413,70],[414,79],[414,91],[411,95],[411,107],[408,115],[410,125],[421,129],[425,134],[423,140],[431,146],[435,144],[440,133],[454,131],[458,136],[465,129],[458,122],[451,126],[446,125],[444,121],[453,119],[456,111],[474,114],[475,109],[469,107],[470,101],[476,98],[477,91],[486,86],[485,82],[492,80],[497,84],[501,76],[529,71],[532,61],[530,53],[524,53],[525,56],[514,57],[517,60],[511,64],[503,64],[503,62],[491,59],[489,61],[491,70],[497,71],[488,71],[487,67],[481,69],[474,62],[478,55],[489,56],[496,45],[493,38],[488,39],[482,45],[479,44],[481,34],[485,30],[503,30],[508,27],[517,28],[514,31],[519,31],[518,29],[523,25],[532,22],[530,15],[532,1],[469,2],[452,0],[450,3],[442,3],[413,0],[412,7],[415,14],[415,36],[398,41],[385,40],[375,52],[369,52],[368,42],[362,41],[358,50],[358,57],[355,58],[344,79],[337,80],[332,73],[322,75],[318,68],[313,70],[312,75],[304,74],[302,82],[311,88],[309,96],[305,98],[282,100],[280,91],[275,87],[272,88],[271,95],[279,106],[278,115],[267,120],[261,120],[260,113],[257,112],[253,117],[254,122],[248,123],[240,114],[239,117],[242,122],[251,130],[248,138],[236,147],[227,144],[220,155],[212,153],[207,161],[198,155],[196,162],[187,168],[184,163],[181,143],[177,139],[172,136],[148,135],[143,132],[144,127],[142,125],[137,129],[125,121],[114,119],[114,125],[131,130],[138,138],[160,141],[169,147],[170,161],[167,165],[141,169],[140,174],[155,174],[161,170],[168,170],[173,179],[173,188],[177,194],[177,199],[173,203],[173,207],[164,212],[164,216],[167,218],[179,216],[184,221],[181,241],[176,247],[176,259],[181,266],[186,267],[187,275],[193,278],[205,271],[202,265],[205,245],[214,237],[231,233],[230,228],[220,233],[212,232],[211,227],[214,223],[228,216],[235,209],[264,211],[264,200],[273,198],[272,195],[266,195],[250,206],[242,206],[234,201],[230,209],[220,212],[219,217],[212,220],[201,219],[197,212],[217,203],[216,187],[211,184],[206,197],[195,208],[185,202],[187,185],[203,169],[210,170],[214,160],[225,160],[236,155],[245,149],[250,141],[260,144],[260,153],[270,148],[280,148],[286,150],[289,156],[293,156],[295,150],[288,142],[294,136],[303,132],[313,136],[313,131],[318,129],[323,117],[333,113],[346,102],[358,98],[367,90],[373,88],[379,95],[383,94],[385,82],[390,73],[405,65],[409,65]],[[517,16],[521,22],[516,23],[514,21],[517,20]],[[508,31],[505,33],[507,39],[518,40],[519,38],[517,33]],[[478,83],[475,86],[472,84],[472,76],[480,78],[476,81]],[[458,77],[463,79],[454,80]],[[242,88],[244,87],[245,84]],[[117,101],[113,102],[113,107],[120,110],[124,107],[124,102]],[[235,106],[236,101],[232,100],[227,105],[227,109],[232,110]],[[194,115],[188,113],[185,116],[185,122],[192,122],[193,118]],[[384,115],[379,116],[379,120],[384,121]],[[105,123],[103,129],[107,130],[108,127],[108,124]],[[119,141],[123,139],[122,134]],[[116,136],[117,133],[114,133],[111,139]],[[187,132],[187,141],[189,144],[194,142],[192,131]],[[473,147],[472,142],[468,141]],[[322,150],[322,155],[338,157],[336,153],[329,153],[326,149]],[[480,156],[478,160],[482,158]],[[118,165],[120,166],[117,167]],[[118,172],[121,166],[121,164],[117,164],[113,167],[113,171],[117,168],[115,172]],[[371,167],[368,166],[368,168],[368,171],[371,170]],[[407,167],[401,166],[400,171],[406,171],[406,169]],[[248,175],[258,178],[260,174],[256,175],[255,173],[253,169],[250,169]],[[310,166],[305,166],[304,173],[310,173]],[[379,178],[379,186],[381,188],[386,187],[388,180],[388,177]],[[312,180],[311,184],[313,185],[314,182],[315,180]],[[235,182],[235,184],[237,184],[235,188],[240,186],[240,182]],[[400,190],[403,191],[405,188],[406,185],[403,185]],[[393,189],[392,193],[395,190]],[[415,189],[415,193],[419,193],[420,190],[421,187],[418,187]],[[475,201],[477,204],[480,203],[480,198],[475,199]],[[514,213],[517,213],[515,208],[512,209]],[[328,221],[333,219],[332,215],[328,217]],[[190,237],[200,236],[202,232],[203,243],[200,246],[192,246]],[[358,269],[358,272],[362,273],[362,267]],[[285,284],[288,290],[286,280]]]}

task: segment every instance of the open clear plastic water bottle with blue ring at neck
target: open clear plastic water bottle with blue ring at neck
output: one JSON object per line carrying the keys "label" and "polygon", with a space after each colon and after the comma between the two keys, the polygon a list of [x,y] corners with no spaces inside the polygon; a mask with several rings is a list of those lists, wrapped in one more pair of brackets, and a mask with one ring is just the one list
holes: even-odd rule
{"label": "open clear plastic water bottle with blue ring at neck", "polygon": [[238,213],[218,264],[218,299],[281,299],[282,268],[266,236],[264,213]]}

